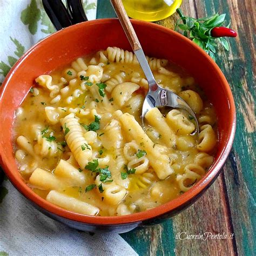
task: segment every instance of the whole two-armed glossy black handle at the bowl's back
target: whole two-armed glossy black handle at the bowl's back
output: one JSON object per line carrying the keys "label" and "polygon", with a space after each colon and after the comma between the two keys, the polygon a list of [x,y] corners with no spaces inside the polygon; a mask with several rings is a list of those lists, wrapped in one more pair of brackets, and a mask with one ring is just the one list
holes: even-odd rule
{"label": "whole two-armed glossy black handle at the bowl's back", "polygon": [[87,21],[82,0],[68,0],[68,10],[62,0],[42,0],[44,10],[57,30]]}

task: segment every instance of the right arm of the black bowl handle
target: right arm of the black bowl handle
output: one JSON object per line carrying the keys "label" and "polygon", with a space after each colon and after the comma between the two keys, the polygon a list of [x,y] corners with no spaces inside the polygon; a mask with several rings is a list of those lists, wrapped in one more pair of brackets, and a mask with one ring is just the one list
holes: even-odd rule
{"label": "right arm of the black bowl handle", "polygon": [[72,16],[72,24],[88,21],[83,7],[83,0],[66,0],[68,11]]}

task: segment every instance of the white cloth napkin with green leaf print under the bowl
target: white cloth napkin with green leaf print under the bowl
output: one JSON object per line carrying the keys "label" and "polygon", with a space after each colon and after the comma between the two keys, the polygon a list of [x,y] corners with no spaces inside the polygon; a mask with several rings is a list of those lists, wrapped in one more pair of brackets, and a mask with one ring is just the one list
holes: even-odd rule
{"label": "white cloth napkin with green leaf print under the bowl", "polygon": [[[84,4],[88,19],[96,18],[97,0]],[[0,0],[0,17],[1,83],[26,50],[55,29],[39,0]],[[10,181],[4,181],[0,185],[0,255],[8,254],[138,255],[118,234],[90,235],[46,217]]]}

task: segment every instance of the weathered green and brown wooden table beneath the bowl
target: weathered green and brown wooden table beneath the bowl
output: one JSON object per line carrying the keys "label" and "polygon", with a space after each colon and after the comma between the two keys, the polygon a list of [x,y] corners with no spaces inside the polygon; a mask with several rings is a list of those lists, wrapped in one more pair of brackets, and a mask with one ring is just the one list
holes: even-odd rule
{"label": "weathered green and brown wooden table beneath the bowl", "polygon": [[[152,0],[153,1],[153,0]],[[214,184],[195,204],[161,225],[121,234],[139,255],[253,255],[255,232],[255,2],[184,0],[184,15],[225,13],[238,37],[220,46],[217,64],[224,72],[237,107],[233,149]],[[107,0],[98,0],[97,18],[116,17]],[[157,22],[173,29],[178,15]],[[254,65],[253,65],[254,64]],[[254,69],[254,70],[253,70]],[[177,239],[177,234],[232,234],[233,239]],[[208,233],[210,234],[210,233]],[[185,237],[185,233],[180,235]],[[255,254],[254,254],[255,255]]]}

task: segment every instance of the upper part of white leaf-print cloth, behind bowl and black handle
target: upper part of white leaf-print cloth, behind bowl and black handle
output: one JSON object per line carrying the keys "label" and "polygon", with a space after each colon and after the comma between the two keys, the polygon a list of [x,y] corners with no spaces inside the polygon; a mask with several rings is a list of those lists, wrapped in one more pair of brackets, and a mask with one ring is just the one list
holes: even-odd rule
{"label": "upper part of white leaf-print cloth, behind bowl and black handle", "polygon": [[[97,0],[84,0],[88,19],[96,18]],[[55,32],[41,0],[0,0],[0,83],[32,45]]]}

